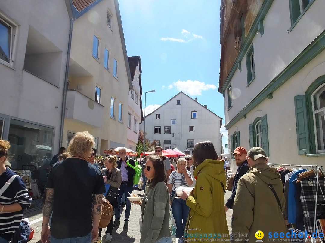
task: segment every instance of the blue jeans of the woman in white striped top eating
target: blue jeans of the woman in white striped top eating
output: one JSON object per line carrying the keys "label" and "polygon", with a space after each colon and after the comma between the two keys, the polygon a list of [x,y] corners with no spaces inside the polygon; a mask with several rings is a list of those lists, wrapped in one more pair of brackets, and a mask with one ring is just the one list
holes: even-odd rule
{"label": "blue jeans of the woman in white striped top eating", "polygon": [[[175,193],[175,191],[172,191],[172,196],[174,196]],[[189,207],[186,205],[185,200],[174,198],[172,211],[176,223],[176,237],[180,238],[184,236]]]}

